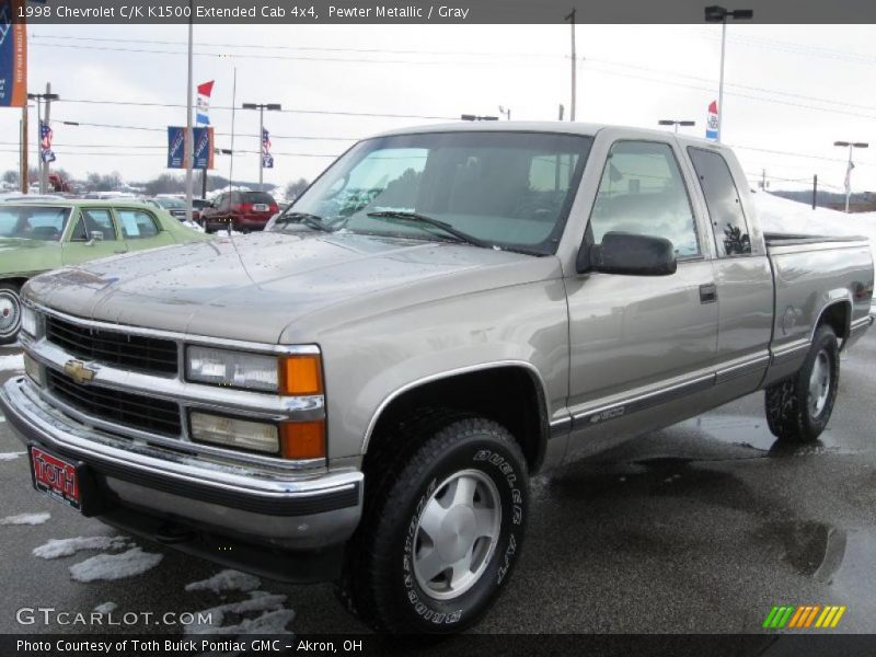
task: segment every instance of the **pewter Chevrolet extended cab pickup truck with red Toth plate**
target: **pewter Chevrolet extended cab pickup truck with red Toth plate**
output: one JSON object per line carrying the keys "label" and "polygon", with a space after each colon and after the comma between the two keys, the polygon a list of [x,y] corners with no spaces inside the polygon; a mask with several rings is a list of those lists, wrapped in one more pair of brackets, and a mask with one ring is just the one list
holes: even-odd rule
{"label": "pewter Chevrolet extended cab pickup truck with red Toth plate", "polygon": [[865,240],[764,234],[721,145],[399,130],[263,234],[32,279],[0,406],[81,512],[449,633],[507,585],[535,472],[757,390],[816,440],[873,284]]}

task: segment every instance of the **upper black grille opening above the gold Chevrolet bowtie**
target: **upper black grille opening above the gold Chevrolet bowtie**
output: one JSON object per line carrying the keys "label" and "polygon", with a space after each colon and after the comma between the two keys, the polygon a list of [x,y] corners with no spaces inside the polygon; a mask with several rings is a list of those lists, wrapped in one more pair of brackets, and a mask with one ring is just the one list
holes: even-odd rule
{"label": "upper black grille opening above the gold Chevrolet bowtie", "polygon": [[176,374],[176,343],[157,337],[79,326],[55,316],[46,318],[46,338],[71,356],[146,373]]}

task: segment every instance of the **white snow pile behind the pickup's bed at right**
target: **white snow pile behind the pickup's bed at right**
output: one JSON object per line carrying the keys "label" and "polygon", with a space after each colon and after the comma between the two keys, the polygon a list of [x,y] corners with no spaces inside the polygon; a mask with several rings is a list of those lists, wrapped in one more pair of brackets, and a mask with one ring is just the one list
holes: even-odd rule
{"label": "white snow pile behind the pickup's bed at right", "polygon": [[[815,235],[863,235],[869,247],[876,246],[876,212],[846,215],[828,208],[774,196],[764,192],[751,195],[765,232],[804,233]],[[876,257],[876,251],[874,251]]]}

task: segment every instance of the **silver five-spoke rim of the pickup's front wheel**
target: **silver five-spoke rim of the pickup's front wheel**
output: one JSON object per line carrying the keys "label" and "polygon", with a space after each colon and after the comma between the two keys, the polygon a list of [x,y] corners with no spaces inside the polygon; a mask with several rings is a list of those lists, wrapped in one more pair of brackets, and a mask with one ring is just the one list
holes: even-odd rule
{"label": "silver five-spoke rim of the pickup's front wheel", "polygon": [[463,470],[435,489],[417,520],[414,575],[438,600],[461,596],[477,583],[502,528],[498,488],[479,470]]}

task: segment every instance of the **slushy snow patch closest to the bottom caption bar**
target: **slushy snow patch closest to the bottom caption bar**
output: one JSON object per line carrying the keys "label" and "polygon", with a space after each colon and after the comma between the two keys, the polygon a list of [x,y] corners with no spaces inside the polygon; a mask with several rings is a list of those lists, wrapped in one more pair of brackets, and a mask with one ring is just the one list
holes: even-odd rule
{"label": "slushy snow patch closest to the bottom caption bar", "polygon": [[[195,612],[195,618],[207,618],[208,622],[186,625],[186,634],[288,634],[286,625],[295,618],[295,611],[284,609],[286,596],[266,591],[251,591],[250,598],[241,602],[229,602]],[[262,612],[234,625],[222,625],[228,615],[242,616],[244,613]]]}

